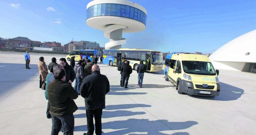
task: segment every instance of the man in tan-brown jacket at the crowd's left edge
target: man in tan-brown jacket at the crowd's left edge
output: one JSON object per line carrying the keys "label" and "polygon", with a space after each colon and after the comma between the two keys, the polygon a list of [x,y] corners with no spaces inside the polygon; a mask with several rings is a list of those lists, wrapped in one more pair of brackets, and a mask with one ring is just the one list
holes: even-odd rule
{"label": "man in tan-brown jacket at the crowd's left edge", "polygon": [[39,88],[41,88],[42,84],[45,82],[45,79],[48,75],[48,69],[47,69],[47,66],[45,64],[45,58],[44,57],[39,58],[39,62],[37,63],[37,67],[38,67],[39,74],[40,74]]}

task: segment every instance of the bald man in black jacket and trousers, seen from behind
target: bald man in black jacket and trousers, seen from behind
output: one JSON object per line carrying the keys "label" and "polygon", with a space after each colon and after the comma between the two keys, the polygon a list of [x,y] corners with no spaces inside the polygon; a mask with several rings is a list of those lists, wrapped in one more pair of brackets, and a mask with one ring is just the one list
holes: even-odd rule
{"label": "bald man in black jacket and trousers, seen from behind", "polygon": [[110,82],[105,75],[100,73],[98,65],[92,66],[92,74],[85,77],[80,86],[80,94],[85,98],[87,118],[87,133],[93,135],[93,116],[95,120],[95,133],[102,135],[102,109],[105,108],[105,96],[110,91]]}

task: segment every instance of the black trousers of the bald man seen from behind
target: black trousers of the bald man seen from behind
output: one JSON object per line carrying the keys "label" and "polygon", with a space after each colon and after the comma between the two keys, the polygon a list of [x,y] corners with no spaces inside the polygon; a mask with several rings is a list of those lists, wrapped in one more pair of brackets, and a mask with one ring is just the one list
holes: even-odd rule
{"label": "black trousers of the bald man seen from behind", "polygon": [[95,134],[102,135],[102,109],[86,110],[87,134],[93,135],[93,116],[95,120]]}

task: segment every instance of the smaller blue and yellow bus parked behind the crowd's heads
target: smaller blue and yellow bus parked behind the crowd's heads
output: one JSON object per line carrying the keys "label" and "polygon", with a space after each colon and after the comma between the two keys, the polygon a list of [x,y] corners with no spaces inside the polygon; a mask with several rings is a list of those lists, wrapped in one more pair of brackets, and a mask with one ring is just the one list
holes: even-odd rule
{"label": "smaller blue and yellow bus parked behind the crowd's heads", "polygon": [[75,61],[84,59],[86,56],[92,61],[93,56],[99,57],[98,50],[73,50],[67,55],[66,59],[69,61],[71,57],[75,56]]}

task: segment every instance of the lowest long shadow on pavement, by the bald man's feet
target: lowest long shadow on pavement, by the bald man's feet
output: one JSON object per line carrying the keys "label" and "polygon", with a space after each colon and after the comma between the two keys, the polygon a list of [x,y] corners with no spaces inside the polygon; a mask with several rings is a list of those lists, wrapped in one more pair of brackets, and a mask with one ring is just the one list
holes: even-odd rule
{"label": "lowest long shadow on pavement, by the bald man's feet", "polygon": [[[165,125],[163,125],[163,123]],[[102,123],[102,129],[115,129],[104,135],[125,135],[134,132],[147,132],[146,135],[170,135],[160,131],[182,130],[198,124],[195,121],[168,122],[167,120],[148,120],[148,119],[128,119]],[[76,126],[75,131],[85,131],[86,125]],[[189,135],[186,132],[180,132],[179,135]],[[131,135],[131,134],[129,134]],[[133,134],[136,135],[136,134]],[[141,134],[140,134],[141,135]],[[142,134],[143,135],[143,134]],[[175,135],[175,134],[174,134]]]}

